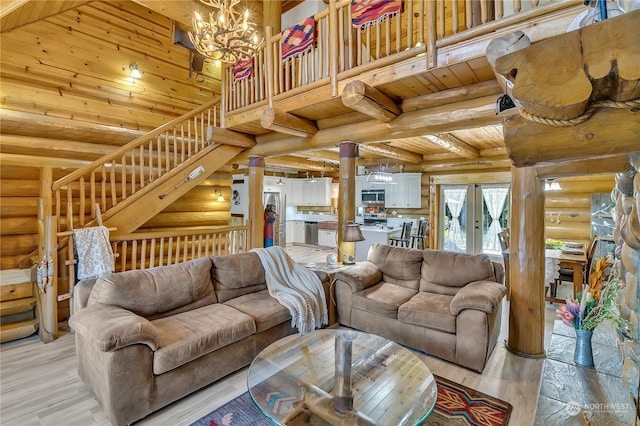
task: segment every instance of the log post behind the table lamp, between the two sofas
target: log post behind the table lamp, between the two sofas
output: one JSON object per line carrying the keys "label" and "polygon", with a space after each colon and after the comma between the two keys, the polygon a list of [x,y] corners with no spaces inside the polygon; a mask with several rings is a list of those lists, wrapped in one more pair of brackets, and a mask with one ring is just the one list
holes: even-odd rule
{"label": "log post behind the table lamp, between the two sofas", "polygon": [[342,241],[344,230],[342,224],[356,218],[356,160],[358,144],[342,142],[340,144],[340,178],[338,186],[338,260],[344,256],[355,256],[355,243]]}

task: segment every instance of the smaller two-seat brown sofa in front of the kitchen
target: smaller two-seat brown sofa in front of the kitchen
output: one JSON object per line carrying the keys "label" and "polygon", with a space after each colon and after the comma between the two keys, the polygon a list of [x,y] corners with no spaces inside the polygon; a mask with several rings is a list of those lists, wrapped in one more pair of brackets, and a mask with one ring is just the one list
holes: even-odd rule
{"label": "smaller two-seat brown sofa in front of the kitchen", "polygon": [[340,324],[482,371],[500,332],[504,269],[486,255],[374,244],[335,277]]}

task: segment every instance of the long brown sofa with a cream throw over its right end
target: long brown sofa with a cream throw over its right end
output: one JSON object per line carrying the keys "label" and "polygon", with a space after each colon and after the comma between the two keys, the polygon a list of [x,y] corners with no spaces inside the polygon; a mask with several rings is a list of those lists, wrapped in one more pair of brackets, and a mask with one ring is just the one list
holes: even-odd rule
{"label": "long brown sofa with a cream throw over its right end", "polygon": [[[318,273],[328,298],[328,277]],[[78,371],[113,424],[129,424],[248,364],[296,333],[255,253],[81,281]]]}

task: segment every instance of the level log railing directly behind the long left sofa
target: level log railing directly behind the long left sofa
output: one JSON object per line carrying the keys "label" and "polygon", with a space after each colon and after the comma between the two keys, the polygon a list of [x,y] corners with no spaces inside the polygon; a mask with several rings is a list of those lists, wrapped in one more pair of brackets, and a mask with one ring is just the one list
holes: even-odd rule
{"label": "level log railing directly behind the long left sofa", "polygon": [[137,232],[111,236],[116,272],[247,251],[247,226]]}

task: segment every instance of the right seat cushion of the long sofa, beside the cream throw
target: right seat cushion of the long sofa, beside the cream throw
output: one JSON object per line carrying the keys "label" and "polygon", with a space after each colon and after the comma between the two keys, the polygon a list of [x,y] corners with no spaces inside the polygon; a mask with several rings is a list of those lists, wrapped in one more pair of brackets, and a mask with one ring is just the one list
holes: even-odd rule
{"label": "right seat cushion of the long sofa, beside the cream throw", "polygon": [[269,295],[269,290],[245,294],[224,302],[253,318],[256,332],[267,330],[286,321],[291,321],[289,310]]}

